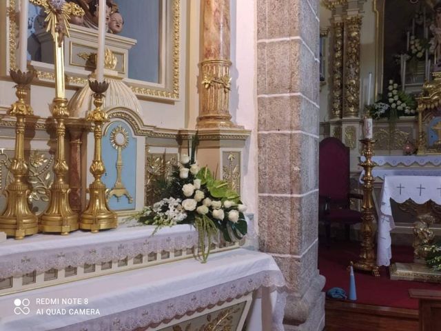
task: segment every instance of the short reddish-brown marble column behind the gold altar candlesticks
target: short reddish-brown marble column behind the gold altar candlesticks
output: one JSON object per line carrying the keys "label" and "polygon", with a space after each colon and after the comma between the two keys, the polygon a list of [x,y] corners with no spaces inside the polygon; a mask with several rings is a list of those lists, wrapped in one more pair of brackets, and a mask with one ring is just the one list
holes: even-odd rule
{"label": "short reddish-brown marble column behind the gold altar candlesticks", "polygon": [[68,128],[70,133],[69,202],[72,210],[81,212],[81,128]]}

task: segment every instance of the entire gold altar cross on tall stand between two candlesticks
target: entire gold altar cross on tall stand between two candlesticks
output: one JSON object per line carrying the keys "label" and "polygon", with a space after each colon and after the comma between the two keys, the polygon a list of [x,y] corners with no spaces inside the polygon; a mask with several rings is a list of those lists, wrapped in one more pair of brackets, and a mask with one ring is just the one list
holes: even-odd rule
{"label": "entire gold altar cross on tall stand between two candlesticks", "polygon": [[65,182],[68,164],[64,156],[65,119],[69,117],[68,99],[65,98],[64,86],[64,35],[69,35],[71,16],[83,16],[84,10],[65,0],[30,0],[34,5],[43,7],[47,31],[54,39],[55,85],[56,94],[52,101],[52,117],[57,122],[57,155],[54,162],[55,180],[50,189],[48,209],[40,218],[39,230],[42,232],[59,232],[68,234],[77,230],[78,215],[70,208],[68,194],[69,184]]}

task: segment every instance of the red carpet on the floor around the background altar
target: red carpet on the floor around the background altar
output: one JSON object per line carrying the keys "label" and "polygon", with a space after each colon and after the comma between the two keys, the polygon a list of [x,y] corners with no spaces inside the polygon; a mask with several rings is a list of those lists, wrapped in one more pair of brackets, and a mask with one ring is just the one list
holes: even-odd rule
{"label": "red carpet on the floor around the background altar", "polygon": [[[321,245],[318,250],[318,268],[326,277],[325,291],[329,288],[342,288],[349,291],[350,261],[357,261],[358,243],[332,243],[331,248]],[[411,262],[413,248],[392,246],[393,261]],[[418,281],[391,281],[389,269],[380,269],[381,277],[373,277],[369,273],[356,271],[357,303],[382,305],[386,307],[418,309],[418,300],[409,298],[410,288],[441,290],[441,284],[422,283]]]}

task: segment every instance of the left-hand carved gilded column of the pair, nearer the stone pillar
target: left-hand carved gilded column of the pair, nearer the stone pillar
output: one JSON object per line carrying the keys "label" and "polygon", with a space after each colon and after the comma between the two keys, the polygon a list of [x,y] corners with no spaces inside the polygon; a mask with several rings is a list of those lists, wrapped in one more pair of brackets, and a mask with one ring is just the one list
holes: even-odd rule
{"label": "left-hand carved gilded column of the pair, nearer the stone pillar", "polygon": [[343,35],[344,23],[334,19],[332,22],[332,108],[330,119],[341,119],[343,110]]}

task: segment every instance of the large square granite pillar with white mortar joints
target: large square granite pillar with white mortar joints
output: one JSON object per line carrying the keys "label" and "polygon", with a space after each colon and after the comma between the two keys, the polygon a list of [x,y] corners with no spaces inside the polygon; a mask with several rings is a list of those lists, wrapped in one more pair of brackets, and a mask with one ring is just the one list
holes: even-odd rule
{"label": "large square granite pillar with white mortar joints", "polygon": [[319,0],[257,0],[258,231],[290,290],[285,330],[322,330]]}

